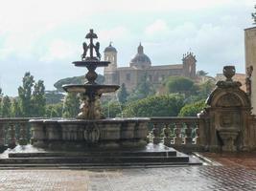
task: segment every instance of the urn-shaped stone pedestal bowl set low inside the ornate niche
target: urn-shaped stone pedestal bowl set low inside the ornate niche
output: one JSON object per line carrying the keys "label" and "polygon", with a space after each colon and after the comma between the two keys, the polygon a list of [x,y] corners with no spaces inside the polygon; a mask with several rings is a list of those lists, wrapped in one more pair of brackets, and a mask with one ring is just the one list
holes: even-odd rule
{"label": "urn-shaped stone pedestal bowl set low inside the ornate niche", "polygon": [[237,151],[234,142],[239,135],[239,130],[236,128],[221,128],[218,133],[223,142],[222,151],[235,152]]}

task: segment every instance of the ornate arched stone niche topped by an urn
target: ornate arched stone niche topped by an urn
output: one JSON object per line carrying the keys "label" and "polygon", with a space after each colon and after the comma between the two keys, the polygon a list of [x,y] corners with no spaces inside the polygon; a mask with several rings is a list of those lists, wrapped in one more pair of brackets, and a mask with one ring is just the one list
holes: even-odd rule
{"label": "ornate arched stone niche topped by an urn", "polygon": [[225,66],[225,81],[218,81],[216,89],[207,98],[208,107],[199,117],[204,117],[205,144],[212,151],[238,151],[250,148],[248,118],[251,105],[248,96],[240,89],[241,83],[233,81],[235,67]]}

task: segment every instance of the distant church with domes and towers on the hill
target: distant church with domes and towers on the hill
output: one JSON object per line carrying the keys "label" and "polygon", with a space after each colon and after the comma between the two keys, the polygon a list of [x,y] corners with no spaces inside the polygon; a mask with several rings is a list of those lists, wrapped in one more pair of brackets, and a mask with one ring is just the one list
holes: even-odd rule
{"label": "distant church with domes and towers on the hill", "polygon": [[111,62],[105,67],[105,84],[126,84],[130,92],[138,85],[141,76],[147,74],[153,86],[160,85],[168,76],[196,77],[196,56],[193,53],[183,54],[182,64],[152,66],[150,57],[144,53],[140,44],[137,53],[130,60],[128,67],[117,66],[117,51],[110,44],[105,48],[105,61]]}

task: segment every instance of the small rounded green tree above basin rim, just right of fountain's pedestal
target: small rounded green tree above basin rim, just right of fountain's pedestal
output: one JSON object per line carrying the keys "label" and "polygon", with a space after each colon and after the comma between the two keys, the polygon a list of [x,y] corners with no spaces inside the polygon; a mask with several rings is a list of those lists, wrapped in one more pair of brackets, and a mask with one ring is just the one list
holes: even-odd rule
{"label": "small rounded green tree above basin rim, just right of fountain's pedestal", "polygon": [[109,101],[103,104],[105,117],[122,117],[123,106],[118,101]]}

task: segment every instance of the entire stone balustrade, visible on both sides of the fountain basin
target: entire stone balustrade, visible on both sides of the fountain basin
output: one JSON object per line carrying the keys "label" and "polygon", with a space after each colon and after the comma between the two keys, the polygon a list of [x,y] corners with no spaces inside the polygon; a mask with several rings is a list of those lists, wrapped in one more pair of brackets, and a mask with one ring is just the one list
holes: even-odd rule
{"label": "entire stone balustrade, visible on both sides of the fountain basin", "polygon": [[[0,148],[28,144],[31,139],[30,119],[35,118],[0,118]],[[198,117],[151,117],[149,140],[181,150],[198,150],[203,144],[199,138],[199,129],[203,128],[200,127],[203,126],[201,120]]]}

